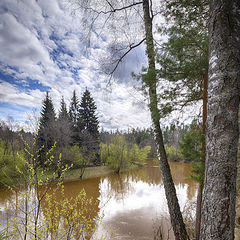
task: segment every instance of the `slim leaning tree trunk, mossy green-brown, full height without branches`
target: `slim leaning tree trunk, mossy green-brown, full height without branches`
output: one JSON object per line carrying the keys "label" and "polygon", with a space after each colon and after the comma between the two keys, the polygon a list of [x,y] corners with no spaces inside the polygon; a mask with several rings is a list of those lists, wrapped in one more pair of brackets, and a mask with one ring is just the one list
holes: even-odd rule
{"label": "slim leaning tree trunk, mossy green-brown, full height without branches", "polygon": [[176,189],[173,183],[170,167],[167,161],[166,152],[164,149],[162,131],[160,128],[160,116],[158,110],[157,91],[156,91],[156,69],[155,69],[155,53],[152,34],[152,18],[150,16],[150,7],[148,0],[143,1],[144,24],[146,31],[146,47],[148,57],[148,74],[145,79],[145,84],[149,88],[150,112],[153,122],[155,141],[157,145],[163,185],[168,203],[168,209],[176,240],[186,240],[188,235],[183,222],[180,211]]}

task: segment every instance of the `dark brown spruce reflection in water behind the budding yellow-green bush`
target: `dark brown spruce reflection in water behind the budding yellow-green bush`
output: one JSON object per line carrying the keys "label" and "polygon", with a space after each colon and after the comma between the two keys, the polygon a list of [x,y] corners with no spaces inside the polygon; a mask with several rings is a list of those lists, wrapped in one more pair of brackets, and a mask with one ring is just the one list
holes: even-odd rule
{"label": "dark brown spruce reflection in water behind the budding yellow-green bush", "polygon": [[[56,192],[54,192],[54,185],[51,186],[50,189],[52,192],[50,191],[50,194],[53,196],[51,201],[54,202],[54,204],[52,204],[51,201],[45,201],[46,198],[43,198],[42,209],[44,215],[47,216],[49,207],[51,207],[52,211],[50,211],[50,213],[53,216],[50,216],[50,219],[55,218],[57,221],[59,221],[59,219],[64,219],[63,222],[65,223],[63,224],[63,228],[65,231],[72,231],[72,226],[75,226],[73,230],[73,235],[75,238],[82,239],[79,236],[84,234],[85,238],[89,240],[92,236],[92,231],[94,231],[93,229],[95,228],[94,226],[96,224],[96,221],[98,221],[99,218],[99,183],[100,178],[65,182],[64,191],[61,191],[60,188]],[[48,187],[49,186],[42,186],[40,194],[46,192],[46,189]],[[82,189],[84,189],[86,193],[86,198],[83,194],[82,197],[77,201],[79,193]],[[62,218],[59,218],[58,216],[57,218],[55,217],[56,207],[58,208],[58,211],[63,212]],[[67,223],[65,220],[67,220]]]}

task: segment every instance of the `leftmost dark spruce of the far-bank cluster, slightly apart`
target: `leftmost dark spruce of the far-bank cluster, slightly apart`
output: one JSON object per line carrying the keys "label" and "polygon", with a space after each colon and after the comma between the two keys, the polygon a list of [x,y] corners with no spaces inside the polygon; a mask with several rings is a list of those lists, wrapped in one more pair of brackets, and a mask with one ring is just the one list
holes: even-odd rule
{"label": "leftmost dark spruce of the far-bank cluster, slightly apart", "polygon": [[55,135],[54,126],[56,123],[56,114],[53,106],[52,99],[49,93],[46,93],[46,97],[42,103],[42,111],[39,122],[37,145],[40,150],[40,164],[43,166],[47,151],[54,145]]}

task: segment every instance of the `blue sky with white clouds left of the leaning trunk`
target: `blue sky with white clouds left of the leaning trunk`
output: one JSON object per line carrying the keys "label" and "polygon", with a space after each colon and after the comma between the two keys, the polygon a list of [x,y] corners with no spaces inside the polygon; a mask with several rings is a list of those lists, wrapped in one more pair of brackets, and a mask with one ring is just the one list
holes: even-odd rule
{"label": "blue sky with white clouds left of the leaning trunk", "polygon": [[88,38],[81,13],[69,6],[63,0],[0,1],[0,119],[26,127],[46,91],[57,113],[62,96],[69,105],[73,90],[80,100],[88,88],[100,127],[149,127],[146,101],[131,76],[146,64],[145,46],[127,55],[110,79],[101,66],[112,34],[92,31]]}

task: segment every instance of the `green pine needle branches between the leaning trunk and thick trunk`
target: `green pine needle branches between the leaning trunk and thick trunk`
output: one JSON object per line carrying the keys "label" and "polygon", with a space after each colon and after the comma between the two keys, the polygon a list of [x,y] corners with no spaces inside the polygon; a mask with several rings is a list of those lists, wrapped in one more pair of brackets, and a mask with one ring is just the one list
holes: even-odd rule
{"label": "green pine needle branches between the leaning trunk and thick trunk", "polygon": [[167,27],[160,29],[168,40],[161,44],[158,78],[167,88],[161,93],[161,112],[181,109],[203,97],[203,79],[208,71],[208,1],[164,2]]}

